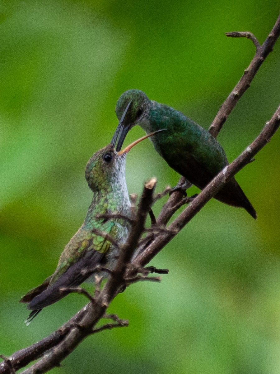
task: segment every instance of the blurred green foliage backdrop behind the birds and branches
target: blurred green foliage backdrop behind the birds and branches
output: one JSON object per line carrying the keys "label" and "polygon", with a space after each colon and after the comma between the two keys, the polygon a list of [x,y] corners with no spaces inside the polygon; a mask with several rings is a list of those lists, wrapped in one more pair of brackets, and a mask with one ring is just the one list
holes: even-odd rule
{"label": "blurred green foliage backdrop behind the birds and branches", "polygon": [[[26,327],[18,300],[54,271],[85,217],[84,167],[111,140],[119,95],[141,89],[208,128],[255,53],[224,32],[262,43],[278,15],[279,1],[1,1],[1,354],[87,302],[69,295]],[[218,135],[230,161],[279,105],[279,72],[280,40]],[[136,126],[125,144],[143,134]],[[279,373],[279,147],[280,132],[236,177],[257,221],[212,199],[152,261],[169,275],[111,304],[130,326],[87,338],[51,372]],[[157,191],[178,180],[142,142],[127,157],[129,192],[154,175]]]}

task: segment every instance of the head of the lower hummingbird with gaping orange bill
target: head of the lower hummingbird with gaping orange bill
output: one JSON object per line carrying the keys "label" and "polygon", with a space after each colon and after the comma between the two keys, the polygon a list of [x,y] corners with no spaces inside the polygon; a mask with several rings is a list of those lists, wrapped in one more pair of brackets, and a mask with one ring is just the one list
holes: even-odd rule
{"label": "head of the lower hummingbird with gaping orange bill", "polygon": [[155,135],[162,130],[145,135],[125,147],[116,151],[112,144],[100,149],[88,160],[85,166],[85,179],[93,192],[104,190],[108,186],[115,187],[125,183],[125,157],[134,145]]}

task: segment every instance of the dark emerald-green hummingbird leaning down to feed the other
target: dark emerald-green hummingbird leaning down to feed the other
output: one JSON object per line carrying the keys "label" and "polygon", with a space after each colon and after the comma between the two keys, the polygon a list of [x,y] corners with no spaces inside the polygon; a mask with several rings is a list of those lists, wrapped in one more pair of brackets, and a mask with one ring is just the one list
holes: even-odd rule
{"label": "dark emerald-green hummingbird leaning down to feed the other", "polygon": [[[117,151],[127,132],[138,124],[146,133],[166,129],[150,138],[155,150],[171,168],[201,190],[228,165],[223,148],[208,131],[180,111],[150,100],[143,91],[130,89],[122,93],[115,111],[119,123],[112,142],[118,139]],[[215,199],[245,208],[253,218],[257,217],[234,177],[221,188]]]}

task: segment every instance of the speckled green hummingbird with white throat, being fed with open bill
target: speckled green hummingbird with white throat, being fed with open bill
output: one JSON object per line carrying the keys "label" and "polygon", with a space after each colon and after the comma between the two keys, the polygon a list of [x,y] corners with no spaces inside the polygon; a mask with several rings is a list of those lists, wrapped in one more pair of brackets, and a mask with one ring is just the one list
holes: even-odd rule
{"label": "speckled green hummingbird with white throat, being fed with open bill", "polygon": [[69,293],[61,291],[62,288],[76,287],[84,282],[89,277],[86,270],[93,269],[99,264],[109,269],[114,268],[118,248],[112,241],[96,233],[96,230],[109,234],[118,245],[126,242],[130,230],[128,220],[110,218],[110,214],[132,218],[125,182],[125,156],[134,145],[153,134],[134,141],[118,152],[114,149],[115,143],[106,145],[88,161],[85,179],[93,192],[93,199],[84,223],[65,246],[53,275],[21,298],[20,302],[28,303],[27,309],[32,310],[25,321],[27,325],[42,308]]}

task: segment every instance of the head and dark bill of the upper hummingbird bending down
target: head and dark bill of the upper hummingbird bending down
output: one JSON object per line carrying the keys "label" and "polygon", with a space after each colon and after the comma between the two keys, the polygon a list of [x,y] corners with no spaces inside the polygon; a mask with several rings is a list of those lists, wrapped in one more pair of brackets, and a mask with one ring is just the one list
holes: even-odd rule
{"label": "head and dark bill of the upper hummingbird bending down", "polygon": [[147,119],[150,107],[151,102],[143,91],[131,89],[122,93],[115,108],[119,124],[111,140],[114,146],[118,140],[118,144],[116,145],[117,151],[121,149],[128,131],[134,125]]}

